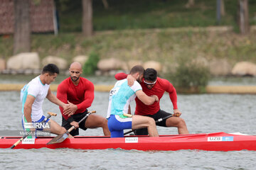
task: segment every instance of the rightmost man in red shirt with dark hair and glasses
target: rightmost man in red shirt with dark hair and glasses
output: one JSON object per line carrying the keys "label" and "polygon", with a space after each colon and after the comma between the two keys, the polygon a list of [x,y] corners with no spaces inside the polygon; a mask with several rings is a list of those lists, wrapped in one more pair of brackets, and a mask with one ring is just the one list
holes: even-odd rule
{"label": "rightmost man in red shirt with dark hair and glasses", "polygon": [[[128,79],[129,85],[133,84],[134,79],[127,74],[119,73],[115,75],[116,79]],[[177,94],[174,86],[166,79],[161,79],[157,77],[157,72],[155,69],[146,69],[144,72],[144,80],[141,82],[142,91],[148,96],[156,95],[159,98],[159,102],[161,97],[164,95],[164,92],[169,93],[169,97],[171,98],[171,102],[174,106],[174,116],[171,118],[167,118],[156,125],[163,127],[177,127],[178,134],[188,134],[188,128],[186,127],[185,120],[180,118],[181,112],[178,111],[177,106]],[[164,118],[171,113],[167,113],[165,111],[161,111],[159,102],[155,102],[150,106],[146,106],[142,101],[139,101],[138,98],[135,98],[136,108],[135,115],[146,115],[154,120],[158,120],[159,118]],[[139,129],[135,131],[136,135],[148,135],[146,129]]]}

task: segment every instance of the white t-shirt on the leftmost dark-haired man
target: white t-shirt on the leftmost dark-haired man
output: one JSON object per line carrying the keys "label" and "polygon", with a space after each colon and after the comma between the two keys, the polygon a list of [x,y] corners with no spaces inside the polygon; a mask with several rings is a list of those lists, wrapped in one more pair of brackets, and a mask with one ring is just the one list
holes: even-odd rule
{"label": "white t-shirt on the leftmost dark-haired man", "polygon": [[41,119],[43,115],[43,101],[48,94],[49,89],[48,84],[42,84],[39,76],[32,79],[26,86],[21,89],[21,100],[22,100],[22,113],[24,114],[24,104],[26,102],[27,95],[33,96],[35,101],[32,105],[31,119],[32,121],[37,121]]}

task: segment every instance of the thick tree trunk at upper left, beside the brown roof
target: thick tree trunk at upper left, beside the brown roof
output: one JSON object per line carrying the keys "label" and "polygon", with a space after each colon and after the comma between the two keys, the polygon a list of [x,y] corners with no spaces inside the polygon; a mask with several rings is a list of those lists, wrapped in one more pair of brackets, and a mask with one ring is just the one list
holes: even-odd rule
{"label": "thick tree trunk at upper left, beside the brown roof", "polygon": [[14,0],[14,54],[31,49],[30,0]]}

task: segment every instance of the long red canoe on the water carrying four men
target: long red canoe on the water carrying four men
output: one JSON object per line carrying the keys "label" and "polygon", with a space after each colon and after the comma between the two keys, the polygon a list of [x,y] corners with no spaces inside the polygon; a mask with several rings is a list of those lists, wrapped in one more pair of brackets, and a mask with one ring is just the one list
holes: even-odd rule
{"label": "long red canoe on the water carrying four men", "polygon": [[[20,137],[1,137],[0,148],[9,148]],[[75,137],[62,143],[46,145],[53,137],[39,137],[32,143],[24,142],[14,149],[38,149],[47,147],[72,149],[137,149],[137,150],[180,150],[199,149],[206,151],[238,151],[242,149],[256,151],[256,136],[216,132],[209,134],[161,135],[160,137]],[[27,141],[29,142],[29,141]],[[33,143],[34,142],[34,143]]]}

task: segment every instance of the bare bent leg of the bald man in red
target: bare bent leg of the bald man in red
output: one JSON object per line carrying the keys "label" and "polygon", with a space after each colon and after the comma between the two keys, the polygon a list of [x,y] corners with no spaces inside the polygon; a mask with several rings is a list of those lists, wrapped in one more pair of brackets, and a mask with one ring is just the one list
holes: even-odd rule
{"label": "bare bent leg of the bald man in red", "polygon": [[105,136],[110,136],[110,130],[107,127],[107,119],[100,115],[91,114],[85,120],[85,128],[102,128]]}

